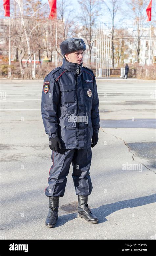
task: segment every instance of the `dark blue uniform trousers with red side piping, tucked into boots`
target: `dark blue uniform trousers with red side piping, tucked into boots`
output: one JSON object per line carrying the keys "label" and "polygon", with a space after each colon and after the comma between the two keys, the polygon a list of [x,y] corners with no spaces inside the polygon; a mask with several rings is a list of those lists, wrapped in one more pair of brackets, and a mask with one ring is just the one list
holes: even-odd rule
{"label": "dark blue uniform trousers with red side piping, tucked into boots", "polygon": [[59,153],[52,150],[51,157],[53,164],[49,171],[49,186],[45,188],[46,196],[64,196],[66,176],[69,174],[71,163],[76,195],[91,194],[93,188],[89,172],[92,158],[91,147],[89,149],[61,149]]}

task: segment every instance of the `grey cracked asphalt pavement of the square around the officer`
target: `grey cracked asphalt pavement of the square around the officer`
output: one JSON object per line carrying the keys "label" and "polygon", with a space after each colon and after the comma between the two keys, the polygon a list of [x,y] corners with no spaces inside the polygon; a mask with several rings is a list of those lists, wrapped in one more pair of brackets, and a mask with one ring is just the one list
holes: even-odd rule
{"label": "grey cracked asphalt pavement of the square around the officer", "polygon": [[1,239],[154,239],[155,81],[97,79],[98,144],[92,148],[89,207],[99,218],[77,218],[78,198],[67,176],[56,227],[45,227],[52,165],[41,117],[43,80],[1,83]]}

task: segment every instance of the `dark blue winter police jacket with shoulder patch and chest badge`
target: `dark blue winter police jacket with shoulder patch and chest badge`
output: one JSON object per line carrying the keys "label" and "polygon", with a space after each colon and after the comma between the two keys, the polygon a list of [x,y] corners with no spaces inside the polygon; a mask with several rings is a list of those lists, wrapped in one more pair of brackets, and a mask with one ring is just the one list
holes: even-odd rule
{"label": "dark blue winter police jacket with shoulder patch and chest badge", "polygon": [[93,132],[98,133],[100,128],[93,71],[64,57],[63,65],[44,79],[41,112],[46,134],[59,137],[62,148],[91,147]]}

